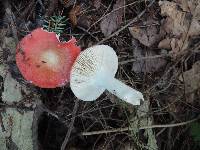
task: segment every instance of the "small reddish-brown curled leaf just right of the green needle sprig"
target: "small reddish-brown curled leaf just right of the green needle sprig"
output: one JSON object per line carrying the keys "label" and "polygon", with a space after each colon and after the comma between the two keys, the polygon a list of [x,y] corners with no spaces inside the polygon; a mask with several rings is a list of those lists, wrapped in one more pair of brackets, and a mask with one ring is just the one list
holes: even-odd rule
{"label": "small reddish-brown curled leaf just right of the green needle sprig", "polygon": [[81,11],[81,7],[79,5],[76,5],[69,12],[69,19],[74,27],[77,25],[77,22],[78,22],[77,16],[80,15],[80,11]]}

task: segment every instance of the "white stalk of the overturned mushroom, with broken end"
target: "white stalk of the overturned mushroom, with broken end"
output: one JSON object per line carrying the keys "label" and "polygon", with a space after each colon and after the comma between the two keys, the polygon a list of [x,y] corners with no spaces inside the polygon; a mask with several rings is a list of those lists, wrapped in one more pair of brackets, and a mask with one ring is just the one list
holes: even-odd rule
{"label": "white stalk of the overturned mushroom, with broken end", "polygon": [[140,105],[140,101],[144,100],[141,92],[125,85],[114,77],[106,77],[101,81],[101,85],[109,92],[128,103]]}

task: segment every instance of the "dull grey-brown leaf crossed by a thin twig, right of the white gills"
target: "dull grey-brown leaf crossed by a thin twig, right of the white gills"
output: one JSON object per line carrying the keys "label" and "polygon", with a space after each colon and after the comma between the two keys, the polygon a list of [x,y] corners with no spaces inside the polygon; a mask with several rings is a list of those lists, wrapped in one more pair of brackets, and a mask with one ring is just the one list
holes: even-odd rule
{"label": "dull grey-brown leaf crossed by a thin twig, right of the white gills", "polygon": [[[164,67],[167,61],[164,58],[153,57],[156,55],[155,51],[144,51],[140,47],[136,47],[133,52],[134,57],[137,59],[133,62],[132,71],[136,73],[154,73],[160,68]],[[145,58],[141,59],[140,58]]]}

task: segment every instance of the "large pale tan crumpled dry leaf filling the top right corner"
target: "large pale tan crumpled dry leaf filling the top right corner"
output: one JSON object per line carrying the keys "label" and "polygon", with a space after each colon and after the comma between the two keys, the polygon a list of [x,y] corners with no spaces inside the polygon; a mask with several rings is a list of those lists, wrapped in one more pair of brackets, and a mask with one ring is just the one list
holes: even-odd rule
{"label": "large pale tan crumpled dry leaf filling the top right corner", "polygon": [[[200,0],[160,1],[161,15],[166,19],[162,23],[167,33],[172,55],[176,58],[188,48],[191,38],[200,35]],[[161,41],[159,48],[169,48]],[[170,42],[169,42],[170,41]]]}

